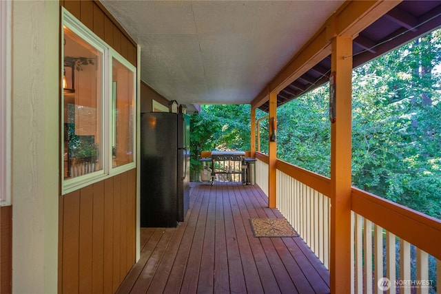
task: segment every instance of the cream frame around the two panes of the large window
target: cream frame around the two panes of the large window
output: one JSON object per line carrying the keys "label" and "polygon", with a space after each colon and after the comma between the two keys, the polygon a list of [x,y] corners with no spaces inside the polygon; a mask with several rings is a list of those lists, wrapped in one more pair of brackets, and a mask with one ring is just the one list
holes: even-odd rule
{"label": "cream frame around the two panes of the large window", "polygon": [[[76,19],[68,10],[62,8],[61,10],[61,77],[63,76],[63,39],[64,39],[64,27],[67,26],[69,30],[74,32],[77,36],[81,37],[84,41],[92,45],[96,50],[101,52],[103,55],[103,61],[101,64],[101,142],[102,142],[102,169],[99,171],[94,171],[90,174],[85,174],[82,176],[76,176],[74,178],[65,179],[63,173],[61,173],[61,195],[65,195],[72,191],[76,191],[88,185],[92,185],[94,182],[99,182],[105,180],[106,178],[111,178],[118,174],[121,174],[130,169],[136,168],[136,67],[127,61],[121,54],[116,52],[110,45],[105,43],[99,36],[96,36],[89,28],[87,28],[81,21]],[[128,69],[133,72],[134,84],[133,84],[133,103],[134,103],[134,113],[133,113],[133,156],[132,162],[119,167],[112,166],[112,142],[113,142],[113,128],[112,128],[112,59],[116,59],[119,63],[125,65]],[[61,85],[61,84],[60,84]],[[61,92],[61,118],[59,125],[61,127],[61,146],[60,146],[60,156],[61,156],[61,171],[64,171],[64,93],[62,87]]]}

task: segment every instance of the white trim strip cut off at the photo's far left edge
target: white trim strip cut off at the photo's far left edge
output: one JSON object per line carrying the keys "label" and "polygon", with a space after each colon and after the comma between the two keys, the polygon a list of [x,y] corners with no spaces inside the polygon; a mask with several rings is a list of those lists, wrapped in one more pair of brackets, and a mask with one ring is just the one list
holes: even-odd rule
{"label": "white trim strip cut off at the photo's far left edge", "polygon": [[0,1],[0,206],[10,205],[11,2]]}

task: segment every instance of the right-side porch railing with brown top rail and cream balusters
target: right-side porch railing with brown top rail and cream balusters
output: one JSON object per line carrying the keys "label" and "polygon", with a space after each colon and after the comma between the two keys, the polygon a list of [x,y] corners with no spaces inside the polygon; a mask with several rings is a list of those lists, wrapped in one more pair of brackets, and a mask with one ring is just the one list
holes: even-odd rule
{"label": "right-side porch railing with brown top rail and cream balusters", "polygon": [[[256,183],[267,187],[265,157],[256,153]],[[282,160],[277,169],[277,208],[329,266],[330,179]],[[396,293],[396,288],[436,293],[435,285],[441,288],[440,220],[355,187],[351,207],[352,293]]]}

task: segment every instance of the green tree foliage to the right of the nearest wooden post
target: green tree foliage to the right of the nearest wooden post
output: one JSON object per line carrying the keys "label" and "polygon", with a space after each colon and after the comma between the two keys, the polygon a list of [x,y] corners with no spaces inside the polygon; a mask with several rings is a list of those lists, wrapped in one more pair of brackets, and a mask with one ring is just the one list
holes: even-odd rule
{"label": "green tree foliage to the right of the nearest wooden post", "polygon": [[441,218],[440,32],[353,72],[353,184]]}

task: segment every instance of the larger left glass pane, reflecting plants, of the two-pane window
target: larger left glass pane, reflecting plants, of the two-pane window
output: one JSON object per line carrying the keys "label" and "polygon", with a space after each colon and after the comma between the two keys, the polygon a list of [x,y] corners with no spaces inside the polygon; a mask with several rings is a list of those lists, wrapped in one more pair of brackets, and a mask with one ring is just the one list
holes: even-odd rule
{"label": "larger left glass pane, reflecting plants, of the two-pane window", "polygon": [[103,169],[103,54],[64,27],[64,178]]}

